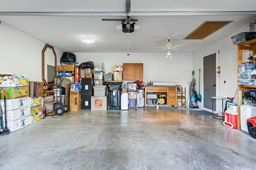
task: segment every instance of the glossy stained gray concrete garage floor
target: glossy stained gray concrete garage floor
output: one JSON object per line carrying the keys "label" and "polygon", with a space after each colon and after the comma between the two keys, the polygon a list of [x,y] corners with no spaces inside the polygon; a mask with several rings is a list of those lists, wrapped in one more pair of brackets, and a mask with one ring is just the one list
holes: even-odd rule
{"label": "glossy stained gray concrete garage floor", "polygon": [[252,170],[256,139],[178,107],[69,111],[0,136],[3,170]]}

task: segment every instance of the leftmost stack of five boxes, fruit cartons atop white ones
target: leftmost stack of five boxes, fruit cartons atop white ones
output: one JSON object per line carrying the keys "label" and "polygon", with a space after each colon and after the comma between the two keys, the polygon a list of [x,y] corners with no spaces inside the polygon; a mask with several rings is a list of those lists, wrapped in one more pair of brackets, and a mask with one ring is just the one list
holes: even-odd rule
{"label": "leftmost stack of five boxes, fruit cartons atop white ones", "polygon": [[[11,132],[30,125],[28,76],[0,74],[0,106]],[[6,102],[4,104],[4,91]],[[5,110],[6,108],[6,110]],[[3,119],[5,123],[5,119]]]}

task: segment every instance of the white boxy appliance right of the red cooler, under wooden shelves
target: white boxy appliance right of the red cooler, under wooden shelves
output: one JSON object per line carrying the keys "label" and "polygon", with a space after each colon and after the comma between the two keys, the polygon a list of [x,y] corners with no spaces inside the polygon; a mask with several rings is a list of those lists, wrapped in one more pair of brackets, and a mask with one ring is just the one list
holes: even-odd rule
{"label": "white boxy appliance right of the red cooler, under wooden shelves", "polygon": [[240,106],[241,131],[245,133],[249,133],[246,120],[254,116],[256,116],[256,106],[250,106],[250,105]]}

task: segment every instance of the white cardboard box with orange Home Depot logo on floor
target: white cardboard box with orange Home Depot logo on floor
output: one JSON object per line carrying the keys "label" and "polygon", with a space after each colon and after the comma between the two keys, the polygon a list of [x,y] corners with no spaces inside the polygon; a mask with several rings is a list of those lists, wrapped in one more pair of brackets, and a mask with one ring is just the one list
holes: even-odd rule
{"label": "white cardboard box with orange Home Depot logo on floor", "polygon": [[107,110],[107,96],[91,96],[91,110]]}

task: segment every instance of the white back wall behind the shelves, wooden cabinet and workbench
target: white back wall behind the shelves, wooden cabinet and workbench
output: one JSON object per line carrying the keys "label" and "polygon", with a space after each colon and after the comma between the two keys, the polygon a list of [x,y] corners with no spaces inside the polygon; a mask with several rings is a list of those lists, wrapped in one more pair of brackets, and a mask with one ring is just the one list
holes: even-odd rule
{"label": "white back wall behind the shelves, wooden cabinet and workbench", "polygon": [[[104,63],[104,72],[113,73],[113,65],[123,63],[143,63],[144,84],[149,81],[176,82],[188,88],[187,82],[192,77],[192,53],[172,53],[166,58],[165,53],[74,53],[79,64],[86,61]],[[127,81],[126,81],[127,82]],[[130,80],[128,82],[133,82]]]}

